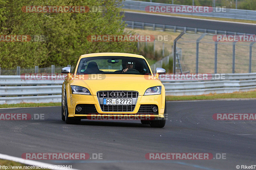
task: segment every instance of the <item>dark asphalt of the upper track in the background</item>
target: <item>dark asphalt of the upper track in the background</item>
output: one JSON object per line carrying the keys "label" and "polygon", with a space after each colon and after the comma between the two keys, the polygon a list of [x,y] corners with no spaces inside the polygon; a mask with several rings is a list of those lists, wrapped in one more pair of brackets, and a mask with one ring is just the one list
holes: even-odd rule
{"label": "dark asphalt of the upper track in the background", "polygon": [[256,25],[125,11],[123,20],[256,34]]}

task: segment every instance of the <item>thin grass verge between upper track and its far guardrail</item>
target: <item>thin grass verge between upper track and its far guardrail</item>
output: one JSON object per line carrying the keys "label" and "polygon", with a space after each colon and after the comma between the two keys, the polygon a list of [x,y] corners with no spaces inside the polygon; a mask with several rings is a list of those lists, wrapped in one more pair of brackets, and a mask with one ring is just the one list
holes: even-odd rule
{"label": "thin grass verge between upper track and its far guardrail", "polygon": [[[132,12],[144,12],[148,13],[146,11],[141,10],[130,10],[130,9],[124,9],[125,11],[132,11]],[[220,21],[233,21],[233,22],[244,22],[244,23],[253,23],[256,24],[256,21],[251,20],[243,20],[243,19],[230,19],[230,18],[215,18],[215,17],[201,17],[201,16],[191,16],[191,15],[184,15],[184,14],[174,14],[174,13],[164,13],[164,12],[150,12],[154,14],[162,14],[162,15],[170,15],[170,16],[178,16],[178,17],[189,17],[189,18],[202,18],[202,19],[213,19],[213,20],[220,20]]]}

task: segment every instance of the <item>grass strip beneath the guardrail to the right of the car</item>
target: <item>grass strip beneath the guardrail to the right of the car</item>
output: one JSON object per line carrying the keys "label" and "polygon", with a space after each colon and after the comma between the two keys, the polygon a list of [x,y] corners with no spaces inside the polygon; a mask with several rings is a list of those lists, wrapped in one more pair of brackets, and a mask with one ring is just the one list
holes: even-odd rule
{"label": "grass strip beneath the guardrail to the right of the car", "polygon": [[256,91],[251,92],[234,92],[225,94],[207,94],[196,96],[166,96],[167,101],[179,100],[214,100],[214,99],[230,99],[230,98],[256,98]]}

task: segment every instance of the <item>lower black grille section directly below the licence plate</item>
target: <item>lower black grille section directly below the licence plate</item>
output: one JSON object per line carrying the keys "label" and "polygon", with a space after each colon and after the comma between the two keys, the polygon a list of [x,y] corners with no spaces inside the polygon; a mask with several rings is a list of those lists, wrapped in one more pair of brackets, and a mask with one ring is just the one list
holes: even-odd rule
{"label": "lower black grille section directly below the licence plate", "polygon": [[133,112],[135,105],[100,105],[103,112]]}

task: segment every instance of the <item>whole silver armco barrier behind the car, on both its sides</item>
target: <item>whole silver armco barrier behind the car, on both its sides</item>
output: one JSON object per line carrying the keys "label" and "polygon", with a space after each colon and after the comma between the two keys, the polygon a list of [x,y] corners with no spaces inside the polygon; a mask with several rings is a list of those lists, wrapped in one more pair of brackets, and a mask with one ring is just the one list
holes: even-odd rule
{"label": "whole silver armco barrier behind the car, on both its sides", "polygon": [[[225,80],[162,80],[166,95],[232,93],[256,89],[256,73],[228,74]],[[63,80],[0,76],[0,104],[61,102]]]}

